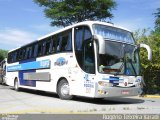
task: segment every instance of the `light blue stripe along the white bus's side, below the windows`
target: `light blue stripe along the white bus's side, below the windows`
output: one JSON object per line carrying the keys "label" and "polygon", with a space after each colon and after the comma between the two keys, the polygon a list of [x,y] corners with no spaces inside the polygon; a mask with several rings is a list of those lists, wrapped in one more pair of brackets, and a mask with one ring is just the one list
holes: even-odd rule
{"label": "light blue stripe along the white bus's side, below the windows", "polygon": [[50,60],[25,62],[19,65],[12,65],[7,67],[8,72],[19,71],[19,70],[31,70],[31,69],[42,69],[50,68]]}

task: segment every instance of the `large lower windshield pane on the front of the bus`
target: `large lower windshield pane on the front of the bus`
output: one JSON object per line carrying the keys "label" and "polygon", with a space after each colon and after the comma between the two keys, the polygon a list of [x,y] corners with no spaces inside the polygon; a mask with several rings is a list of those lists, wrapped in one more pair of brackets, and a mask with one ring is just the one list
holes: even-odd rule
{"label": "large lower windshield pane on the front of the bus", "polygon": [[98,54],[99,72],[114,75],[140,74],[139,53],[134,45],[105,41],[105,54]]}

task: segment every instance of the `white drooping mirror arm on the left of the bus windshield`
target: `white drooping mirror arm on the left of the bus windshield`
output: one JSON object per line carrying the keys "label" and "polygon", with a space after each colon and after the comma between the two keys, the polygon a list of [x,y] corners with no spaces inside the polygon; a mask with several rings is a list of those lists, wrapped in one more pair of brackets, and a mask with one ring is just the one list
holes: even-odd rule
{"label": "white drooping mirror arm on the left of the bus windshield", "polygon": [[93,40],[96,41],[96,43],[98,43],[99,54],[105,54],[105,41],[104,41],[103,37],[100,35],[93,35],[92,38],[93,38]]}

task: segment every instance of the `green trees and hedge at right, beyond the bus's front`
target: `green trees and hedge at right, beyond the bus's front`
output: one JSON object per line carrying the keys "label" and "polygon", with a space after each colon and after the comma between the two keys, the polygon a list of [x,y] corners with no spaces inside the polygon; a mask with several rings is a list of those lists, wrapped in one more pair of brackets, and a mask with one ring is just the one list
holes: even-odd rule
{"label": "green trees and hedge at right, beyond the bus's front", "polygon": [[137,43],[145,43],[152,49],[152,61],[147,60],[147,51],[140,50],[142,74],[146,83],[145,92],[160,94],[160,31],[155,28],[138,30],[134,34]]}

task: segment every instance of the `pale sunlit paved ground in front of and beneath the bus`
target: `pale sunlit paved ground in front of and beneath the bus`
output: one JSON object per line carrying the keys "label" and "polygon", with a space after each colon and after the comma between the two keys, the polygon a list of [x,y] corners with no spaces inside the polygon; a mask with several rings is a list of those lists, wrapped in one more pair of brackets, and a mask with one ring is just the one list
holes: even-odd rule
{"label": "pale sunlit paved ground in front of and beneath the bus", "polygon": [[14,91],[9,86],[0,85],[0,113],[60,113],[60,114],[160,114],[158,98],[108,98],[93,100],[76,97],[60,100],[56,94],[41,91]]}

